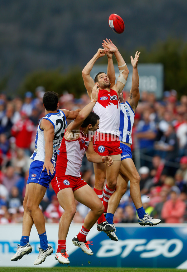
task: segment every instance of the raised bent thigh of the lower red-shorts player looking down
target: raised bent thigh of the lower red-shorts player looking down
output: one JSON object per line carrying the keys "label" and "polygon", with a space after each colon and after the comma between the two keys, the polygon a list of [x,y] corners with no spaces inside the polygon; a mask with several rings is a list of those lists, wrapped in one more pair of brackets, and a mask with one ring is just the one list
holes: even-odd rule
{"label": "raised bent thigh of the lower red-shorts player looking down", "polygon": [[103,203],[88,184],[74,191],[74,197],[91,210],[103,208]]}

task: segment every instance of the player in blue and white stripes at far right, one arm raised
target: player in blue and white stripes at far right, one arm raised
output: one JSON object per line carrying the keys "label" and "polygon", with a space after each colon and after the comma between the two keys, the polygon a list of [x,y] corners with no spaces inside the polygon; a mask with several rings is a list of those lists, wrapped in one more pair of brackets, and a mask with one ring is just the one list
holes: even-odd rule
{"label": "player in blue and white stripes at far right, one arm raised", "polygon": [[[132,160],[131,144],[132,144],[132,126],[134,123],[135,110],[140,99],[139,93],[139,75],[138,75],[138,59],[140,52],[135,54],[135,57],[131,56],[132,64],[132,87],[129,97],[126,102],[123,102],[123,94],[119,94],[120,101],[120,147],[122,149],[121,154],[121,166],[117,179],[116,190],[108,200],[108,210],[106,220],[109,224],[113,224],[113,215],[119,205],[119,202],[127,190],[128,181],[130,181],[130,195],[132,201],[137,210],[138,222],[140,225],[157,225],[161,222],[160,219],[155,219],[146,214],[142,202],[140,193],[140,176]],[[107,234],[112,240],[117,241],[118,238],[115,232]]]}

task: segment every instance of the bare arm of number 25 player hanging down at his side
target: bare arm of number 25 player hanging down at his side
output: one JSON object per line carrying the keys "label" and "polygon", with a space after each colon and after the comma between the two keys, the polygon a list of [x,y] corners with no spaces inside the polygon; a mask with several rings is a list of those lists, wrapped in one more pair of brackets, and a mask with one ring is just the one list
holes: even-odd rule
{"label": "bare arm of number 25 player hanging down at his side", "polygon": [[46,168],[47,174],[49,175],[49,171],[51,174],[53,174],[55,171],[55,167],[51,162],[53,156],[53,139],[55,136],[55,130],[51,122],[46,119],[42,119],[40,128],[44,131],[45,140],[45,161],[42,171]]}

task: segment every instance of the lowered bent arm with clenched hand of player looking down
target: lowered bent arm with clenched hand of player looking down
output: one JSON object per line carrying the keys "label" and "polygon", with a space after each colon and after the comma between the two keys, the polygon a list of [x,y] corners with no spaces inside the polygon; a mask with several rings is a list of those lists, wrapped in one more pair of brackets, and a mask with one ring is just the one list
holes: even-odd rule
{"label": "lowered bent arm with clenched hand of player looking down", "polygon": [[92,161],[95,163],[104,163],[106,162],[108,166],[111,166],[113,164],[113,160],[109,156],[100,156],[98,153],[96,153],[93,149],[93,142],[89,142],[88,149],[86,151],[86,157],[88,161]]}

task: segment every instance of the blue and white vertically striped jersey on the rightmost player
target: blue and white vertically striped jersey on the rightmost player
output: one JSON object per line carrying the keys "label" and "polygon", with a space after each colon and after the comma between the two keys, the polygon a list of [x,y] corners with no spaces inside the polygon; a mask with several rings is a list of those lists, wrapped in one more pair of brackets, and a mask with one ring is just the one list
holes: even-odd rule
{"label": "blue and white vertically striped jersey on the rightmost player", "polygon": [[128,144],[132,144],[132,126],[134,124],[134,111],[130,104],[126,101],[120,103],[120,121],[119,121],[119,132],[120,141]]}

